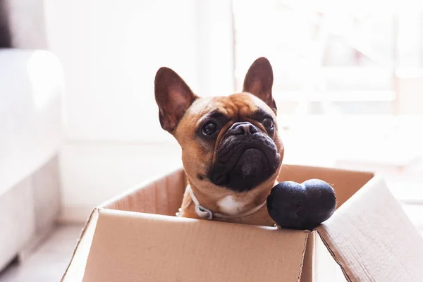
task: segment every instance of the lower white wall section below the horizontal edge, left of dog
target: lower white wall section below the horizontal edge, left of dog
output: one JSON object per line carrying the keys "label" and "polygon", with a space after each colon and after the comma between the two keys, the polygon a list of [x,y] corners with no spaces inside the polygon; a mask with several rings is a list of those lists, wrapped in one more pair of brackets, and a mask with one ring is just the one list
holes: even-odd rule
{"label": "lower white wall section below the horizontal edge, left of dog", "polygon": [[61,152],[61,220],[84,221],[95,205],[180,165],[177,146],[67,142]]}

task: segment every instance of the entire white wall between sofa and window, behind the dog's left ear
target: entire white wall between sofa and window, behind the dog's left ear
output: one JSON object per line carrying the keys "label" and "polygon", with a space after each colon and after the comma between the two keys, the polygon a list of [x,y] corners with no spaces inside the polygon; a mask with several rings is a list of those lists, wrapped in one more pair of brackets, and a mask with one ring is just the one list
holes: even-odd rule
{"label": "entire white wall between sofa and window, behind the dog's left ear", "polygon": [[180,162],[153,82],[168,66],[200,95],[233,92],[231,1],[45,0],[66,79],[63,219]]}

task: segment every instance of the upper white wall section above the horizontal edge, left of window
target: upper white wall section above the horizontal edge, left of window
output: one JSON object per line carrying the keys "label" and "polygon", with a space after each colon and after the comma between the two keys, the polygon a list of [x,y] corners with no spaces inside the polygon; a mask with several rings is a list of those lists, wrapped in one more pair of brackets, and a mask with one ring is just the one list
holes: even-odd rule
{"label": "upper white wall section above the horizontal edge, left of window", "polygon": [[197,90],[195,1],[51,0],[46,5],[49,47],[66,75],[70,139],[152,137],[141,125],[150,115],[152,128],[159,125],[153,81],[160,66],[175,68]]}

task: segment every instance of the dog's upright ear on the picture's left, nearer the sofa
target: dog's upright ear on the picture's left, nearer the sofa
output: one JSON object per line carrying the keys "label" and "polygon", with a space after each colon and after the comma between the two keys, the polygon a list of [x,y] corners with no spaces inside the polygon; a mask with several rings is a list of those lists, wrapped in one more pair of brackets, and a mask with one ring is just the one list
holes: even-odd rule
{"label": "dog's upright ear on the picture's left, nearer the sofa", "polygon": [[197,99],[185,81],[170,68],[159,68],[157,71],[154,96],[159,106],[160,125],[172,134],[185,111]]}

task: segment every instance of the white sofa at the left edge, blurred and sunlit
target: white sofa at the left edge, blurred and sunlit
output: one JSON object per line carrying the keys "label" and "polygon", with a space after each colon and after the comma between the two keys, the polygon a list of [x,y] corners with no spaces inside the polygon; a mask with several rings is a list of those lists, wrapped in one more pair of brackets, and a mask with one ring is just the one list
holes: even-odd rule
{"label": "white sofa at the left edge, blurred and sunlit", "polygon": [[0,271],[59,213],[63,92],[49,51],[0,49]]}

